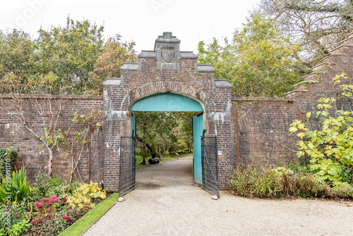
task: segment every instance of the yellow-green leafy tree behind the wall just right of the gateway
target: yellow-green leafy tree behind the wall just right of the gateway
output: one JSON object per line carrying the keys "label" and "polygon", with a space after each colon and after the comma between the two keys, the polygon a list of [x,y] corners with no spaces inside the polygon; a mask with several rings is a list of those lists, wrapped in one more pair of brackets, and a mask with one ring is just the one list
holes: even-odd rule
{"label": "yellow-green leafy tree behind the wall just right of the gateway", "polygon": [[252,14],[241,30],[235,30],[232,42],[217,39],[205,49],[198,44],[198,62],[210,63],[216,79],[234,85],[237,97],[280,97],[301,80],[295,55],[299,46],[282,37],[273,23],[259,13]]}

